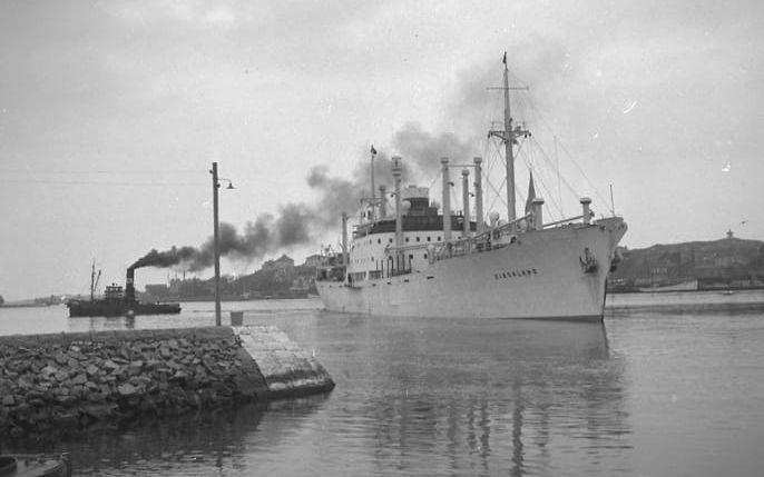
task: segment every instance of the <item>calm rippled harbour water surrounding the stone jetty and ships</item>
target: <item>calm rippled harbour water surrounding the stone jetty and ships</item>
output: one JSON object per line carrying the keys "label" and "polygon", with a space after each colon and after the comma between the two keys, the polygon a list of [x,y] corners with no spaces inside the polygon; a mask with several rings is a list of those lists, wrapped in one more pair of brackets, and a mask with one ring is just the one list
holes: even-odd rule
{"label": "calm rippled harbour water surrounding the stone jetty and ships", "polygon": [[[320,308],[224,304],[315,352],[337,385],[329,395],[1,449],[66,449],[94,476],[764,474],[761,291],[614,295],[604,324]],[[0,332],[202,326],[212,309],[134,320],[0,309]]]}

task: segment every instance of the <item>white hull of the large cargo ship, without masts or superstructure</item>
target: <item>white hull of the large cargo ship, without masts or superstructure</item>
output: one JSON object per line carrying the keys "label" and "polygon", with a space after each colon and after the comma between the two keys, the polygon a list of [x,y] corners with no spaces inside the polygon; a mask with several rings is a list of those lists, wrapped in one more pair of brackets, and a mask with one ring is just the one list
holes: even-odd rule
{"label": "white hull of the large cargo ship, without masts or superstructure", "polygon": [[[380,316],[601,319],[605,279],[626,232],[620,218],[518,236],[515,244],[438,260],[410,274],[316,281],[326,309]],[[596,260],[586,271],[588,249]]]}

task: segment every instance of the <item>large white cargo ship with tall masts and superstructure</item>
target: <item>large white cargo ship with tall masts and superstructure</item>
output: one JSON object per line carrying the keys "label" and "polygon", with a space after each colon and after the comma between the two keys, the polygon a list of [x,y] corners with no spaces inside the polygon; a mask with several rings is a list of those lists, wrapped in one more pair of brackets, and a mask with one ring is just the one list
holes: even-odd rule
{"label": "large white cargo ship with tall masts and superstructure", "polygon": [[[501,142],[506,165],[507,218],[483,218],[482,158],[458,165],[462,212],[451,210],[448,158],[442,158],[442,200],[429,188],[401,187],[402,161],[392,158],[395,206],[386,191],[365,199],[365,213],[347,236],[342,215],[342,251],[326,255],[316,289],[327,310],[401,317],[557,318],[601,320],[605,281],[617,262],[616,246],[627,230],[613,213],[594,220],[591,199],[580,215],[547,222],[543,199],[530,177],[526,212],[517,217],[513,148],[529,132],[512,126],[507,57],[503,67],[503,123],[489,131]],[[376,151],[371,148],[372,165]],[[462,158],[461,162],[463,162]],[[435,159],[437,160],[437,159]],[[473,169],[473,188],[469,176]],[[373,166],[372,166],[373,171]],[[372,172],[372,191],[373,172]],[[471,203],[470,197],[474,197]],[[474,219],[470,212],[474,207]],[[339,211],[337,211],[339,212]]]}

